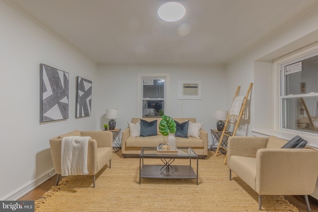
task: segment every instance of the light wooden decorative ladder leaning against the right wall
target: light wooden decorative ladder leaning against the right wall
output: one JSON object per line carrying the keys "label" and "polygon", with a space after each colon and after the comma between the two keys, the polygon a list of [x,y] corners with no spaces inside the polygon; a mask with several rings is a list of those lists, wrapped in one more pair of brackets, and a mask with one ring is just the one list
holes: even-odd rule
{"label": "light wooden decorative ladder leaning against the right wall", "polygon": [[[216,151],[215,151],[215,156],[217,156],[218,153],[221,153],[221,152],[219,152],[220,147],[223,148],[224,150],[228,151],[228,149],[227,149],[226,147],[224,147],[224,146],[221,145],[221,143],[222,143],[222,141],[223,141],[223,137],[224,137],[224,136],[232,137],[232,136],[235,136],[235,134],[237,133],[237,130],[238,130],[238,127],[239,127],[239,121],[240,121],[240,119],[242,118],[243,111],[244,111],[244,107],[245,107],[245,105],[246,105],[246,103],[247,103],[247,98],[248,98],[248,95],[249,95],[250,90],[252,89],[252,86],[253,86],[253,83],[250,83],[250,84],[249,84],[249,87],[248,87],[248,90],[247,90],[247,93],[246,93],[246,95],[245,95],[245,98],[244,98],[244,100],[243,100],[243,102],[242,102],[242,106],[241,106],[240,111],[239,111],[238,121],[237,121],[237,122],[230,122],[230,121],[229,121],[229,120],[230,120],[230,113],[228,114],[227,121],[225,122],[225,125],[224,125],[224,128],[223,128],[223,132],[222,132],[221,138],[220,138],[220,140],[219,140],[218,148],[217,148]],[[234,98],[233,98],[233,102],[234,102],[234,99],[235,99],[235,98],[238,96],[238,94],[239,94],[239,88],[240,88],[240,86],[238,86],[238,89],[237,89],[237,91],[236,91],[236,93],[235,93],[235,96],[234,96]],[[233,102],[232,102],[232,105],[233,105]],[[232,105],[231,105],[231,108],[232,108]],[[228,124],[234,124],[234,125],[235,125],[235,128],[234,128],[234,131],[233,131],[232,136],[225,133]],[[227,163],[227,160],[228,160],[228,152],[227,152],[227,154],[226,154],[226,156],[225,156],[224,164]]]}

